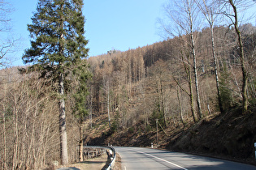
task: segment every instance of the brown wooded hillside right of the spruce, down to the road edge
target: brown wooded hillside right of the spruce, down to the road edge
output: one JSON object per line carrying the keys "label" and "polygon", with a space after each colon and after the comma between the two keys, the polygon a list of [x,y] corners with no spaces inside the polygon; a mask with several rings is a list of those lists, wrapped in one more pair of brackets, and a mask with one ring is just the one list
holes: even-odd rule
{"label": "brown wooded hillside right of the spruce, down to the road edge", "polygon": [[250,68],[249,111],[244,115],[235,34],[229,28],[215,28],[223,113],[219,112],[208,34],[209,28],[197,33],[202,118],[198,113],[191,49],[184,43],[189,43],[188,37],[90,57],[93,80],[89,114],[93,123],[86,130],[85,142],[150,147],[151,142],[157,142],[158,120],[160,148],[254,163],[256,74],[251,57],[255,34],[243,36],[246,68]]}

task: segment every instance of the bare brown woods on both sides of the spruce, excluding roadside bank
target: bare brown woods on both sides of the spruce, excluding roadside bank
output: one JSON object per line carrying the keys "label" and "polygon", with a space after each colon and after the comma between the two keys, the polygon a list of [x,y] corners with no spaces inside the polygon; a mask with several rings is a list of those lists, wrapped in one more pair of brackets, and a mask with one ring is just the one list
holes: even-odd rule
{"label": "bare brown woods on both sides of the spruce, excluding roadside bank", "polygon": [[[251,107],[255,104],[255,30],[251,24],[242,27],[245,42],[246,64],[249,68],[248,97]],[[223,112],[232,107],[241,107],[242,75],[236,57],[236,40],[233,30],[215,28],[216,53],[219,57],[219,84]],[[214,61],[211,56],[209,28],[197,32],[199,92],[202,101],[202,115],[207,117],[219,113],[215,85]],[[229,37],[229,38],[227,38]],[[89,95],[86,100],[88,116],[86,128],[98,124],[97,117],[105,115],[106,130],[121,131],[141,124],[142,131],[155,128],[155,119],[164,128],[173,125],[191,125],[199,121],[197,106],[194,117],[189,101],[188,70],[191,58],[186,62],[180,56],[180,39],[155,43],[125,52],[109,51],[97,57],[89,57],[89,71],[93,77],[88,80]],[[193,74],[193,73],[191,73]],[[193,78],[191,78],[193,81]],[[72,81],[72,78],[69,78]],[[59,101],[50,91],[57,86],[50,80],[39,79],[38,74],[20,75],[17,68],[1,70],[1,135],[8,153],[8,162],[13,159],[34,166],[46,164],[59,158],[58,115]],[[73,81],[75,82],[75,81]],[[76,84],[76,83],[75,83]],[[71,84],[70,86],[75,86]],[[67,113],[72,113],[73,91],[66,96]],[[195,91],[194,83],[193,89]],[[194,94],[194,93],[193,93]],[[193,96],[195,99],[195,96]],[[242,115],[242,113],[241,113]],[[4,117],[3,117],[4,116]],[[72,161],[77,158],[79,121],[67,114],[68,150]],[[86,135],[85,130],[85,135]],[[90,137],[93,138],[93,137]],[[3,141],[1,141],[3,142]],[[89,141],[88,141],[89,142]],[[1,148],[2,150],[2,148]],[[14,154],[16,158],[11,156]],[[23,153],[24,152],[24,153]],[[46,156],[47,155],[47,156]],[[18,157],[19,156],[19,157]],[[38,159],[38,160],[37,160]],[[29,161],[32,161],[29,163]],[[43,160],[43,162],[41,162]]]}

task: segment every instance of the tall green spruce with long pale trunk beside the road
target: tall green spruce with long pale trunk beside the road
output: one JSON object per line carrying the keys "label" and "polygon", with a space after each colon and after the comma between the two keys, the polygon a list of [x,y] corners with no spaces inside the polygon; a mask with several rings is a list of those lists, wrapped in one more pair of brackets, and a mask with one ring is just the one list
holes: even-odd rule
{"label": "tall green spruce with long pale trunk beside the road", "polygon": [[41,69],[43,77],[59,82],[59,133],[62,164],[68,164],[64,86],[67,74],[87,57],[82,0],[39,0],[33,23],[28,24],[31,47],[24,63]]}

